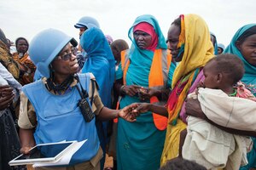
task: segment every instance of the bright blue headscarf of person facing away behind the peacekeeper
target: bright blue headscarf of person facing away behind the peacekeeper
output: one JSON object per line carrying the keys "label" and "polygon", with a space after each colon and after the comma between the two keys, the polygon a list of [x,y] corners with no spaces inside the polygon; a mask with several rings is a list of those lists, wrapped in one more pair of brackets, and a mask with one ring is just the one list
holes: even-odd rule
{"label": "bright blue headscarf of person facing away behind the peacekeeper", "polygon": [[110,107],[115,61],[108,41],[99,28],[92,27],[81,36],[80,44],[88,58],[82,72],[93,73],[100,87],[102,103]]}

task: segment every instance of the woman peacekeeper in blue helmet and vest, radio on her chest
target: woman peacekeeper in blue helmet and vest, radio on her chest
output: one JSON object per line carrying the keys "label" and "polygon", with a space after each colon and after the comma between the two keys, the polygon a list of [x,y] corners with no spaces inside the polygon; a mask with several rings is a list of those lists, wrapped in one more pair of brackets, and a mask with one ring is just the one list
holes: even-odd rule
{"label": "woman peacekeeper in blue helmet and vest, radio on her chest", "polygon": [[135,120],[127,109],[104,107],[91,73],[76,74],[79,65],[72,54],[76,45],[73,37],[54,29],[41,31],[32,39],[29,54],[44,77],[22,88],[20,151],[27,153],[35,144],[88,139],[66,167],[100,169],[102,149],[95,116],[101,120],[118,116],[130,122]]}

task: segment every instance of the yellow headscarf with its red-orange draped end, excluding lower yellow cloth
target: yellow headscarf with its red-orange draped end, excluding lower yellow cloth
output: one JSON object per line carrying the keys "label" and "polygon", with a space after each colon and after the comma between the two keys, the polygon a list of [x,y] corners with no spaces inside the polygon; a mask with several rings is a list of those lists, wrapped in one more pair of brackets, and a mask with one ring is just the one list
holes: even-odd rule
{"label": "yellow headscarf with its red-orange draped end, excluding lower yellow cloth", "polygon": [[[199,69],[213,56],[210,32],[205,21],[195,14],[180,15],[180,17],[181,33],[177,48],[183,47],[183,59],[174,71],[172,94],[167,102],[168,122],[174,124]],[[179,93],[177,94],[176,91]]]}

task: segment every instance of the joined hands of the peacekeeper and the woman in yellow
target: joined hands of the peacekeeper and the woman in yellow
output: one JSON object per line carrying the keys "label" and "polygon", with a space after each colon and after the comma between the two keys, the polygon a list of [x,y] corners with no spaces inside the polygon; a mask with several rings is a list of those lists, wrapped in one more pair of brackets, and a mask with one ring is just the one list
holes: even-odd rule
{"label": "joined hands of the peacekeeper and the woman in yellow", "polygon": [[141,113],[149,110],[149,106],[150,104],[148,103],[134,103],[127,105],[119,111],[119,117],[122,117],[128,122],[135,122],[137,116],[140,116]]}

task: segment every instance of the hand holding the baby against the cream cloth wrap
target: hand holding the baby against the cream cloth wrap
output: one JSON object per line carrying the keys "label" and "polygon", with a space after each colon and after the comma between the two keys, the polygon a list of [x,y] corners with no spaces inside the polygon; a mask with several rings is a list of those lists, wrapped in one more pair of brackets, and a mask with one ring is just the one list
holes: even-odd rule
{"label": "hand holding the baby against the cream cloth wrap", "polygon": [[188,116],[195,116],[204,120],[207,119],[207,116],[201,111],[201,105],[198,99],[186,99],[185,110]]}

